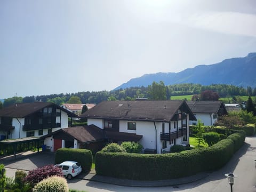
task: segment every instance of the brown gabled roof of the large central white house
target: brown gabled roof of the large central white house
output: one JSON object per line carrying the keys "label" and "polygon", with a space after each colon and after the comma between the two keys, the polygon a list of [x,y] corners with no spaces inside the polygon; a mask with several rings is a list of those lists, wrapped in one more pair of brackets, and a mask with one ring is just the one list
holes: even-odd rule
{"label": "brown gabled roof of the large central white house", "polygon": [[170,122],[179,109],[196,119],[183,100],[103,101],[80,117]]}

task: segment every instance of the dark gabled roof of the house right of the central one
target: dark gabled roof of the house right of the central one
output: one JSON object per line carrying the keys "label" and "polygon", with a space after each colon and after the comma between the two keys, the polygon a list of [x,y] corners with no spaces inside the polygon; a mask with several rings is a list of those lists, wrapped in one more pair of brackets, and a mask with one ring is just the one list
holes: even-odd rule
{"label": "dark gabled roof of the house right of the central one", "polygon": [[222,101],[187,101],[193,113],[228,114]]}

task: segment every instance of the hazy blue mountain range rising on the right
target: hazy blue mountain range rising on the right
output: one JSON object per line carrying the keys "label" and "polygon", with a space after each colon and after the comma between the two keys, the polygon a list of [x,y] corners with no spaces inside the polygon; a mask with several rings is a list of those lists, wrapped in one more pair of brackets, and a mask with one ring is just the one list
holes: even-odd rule
{"label": "hazy blue mountain range rising on the right", "polygon": [[115,90],[127,87],[148,86],[163,81],[165,85],[195,83],[201,85],[229,84],[236,86],[256,86],[256,53],[249,53],[243,58],[225,59],[212,65],[198,65],[179,73],[145,74],[132,78]]}

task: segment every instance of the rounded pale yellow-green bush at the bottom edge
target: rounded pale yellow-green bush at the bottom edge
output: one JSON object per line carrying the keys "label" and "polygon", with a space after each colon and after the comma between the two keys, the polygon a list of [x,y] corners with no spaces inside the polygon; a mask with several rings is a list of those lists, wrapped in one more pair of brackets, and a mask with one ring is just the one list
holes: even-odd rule
{"label": "rounded pale yellow-green bush at the bottom edge", "polygon": [[68,183],[67,180],[63,177],[51,176],[46,178],[35,186],[33,189],[34,192],[68,192]]}

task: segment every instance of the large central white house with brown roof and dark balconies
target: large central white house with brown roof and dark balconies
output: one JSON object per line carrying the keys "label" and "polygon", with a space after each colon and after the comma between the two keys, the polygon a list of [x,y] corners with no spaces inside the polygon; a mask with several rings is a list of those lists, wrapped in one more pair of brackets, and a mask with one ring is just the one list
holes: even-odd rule
{"label": "large central white house with brown roof and dark balconies", "polygon": [[145,153],[163,153],[189,143],[189,121],[195,116],[182,100],[103,101],[83,113],[110,142],[139,141]]}

